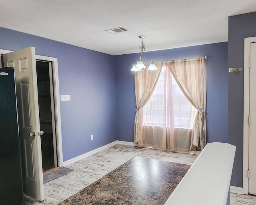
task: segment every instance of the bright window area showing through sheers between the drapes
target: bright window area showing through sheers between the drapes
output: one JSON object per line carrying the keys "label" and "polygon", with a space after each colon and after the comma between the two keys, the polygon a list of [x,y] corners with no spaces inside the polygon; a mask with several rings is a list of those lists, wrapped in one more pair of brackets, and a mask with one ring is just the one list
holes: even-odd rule
{"label": "bright window area showing through sheers between the drapes", "polygon": [[[163,66],[156,88],[143,108],[143,125],[192,129],[197,109],[186,99],[169,68]],[[168,119],[172,118],[172,119]]]}

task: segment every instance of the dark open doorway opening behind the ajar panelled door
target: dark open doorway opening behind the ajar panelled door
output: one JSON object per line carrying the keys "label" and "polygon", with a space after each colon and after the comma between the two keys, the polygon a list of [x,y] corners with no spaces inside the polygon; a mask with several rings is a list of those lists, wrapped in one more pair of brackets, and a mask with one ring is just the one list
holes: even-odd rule
{"label": "dark open doorway opening behind the ajar panelled door", "polygon": [[52,62],[36,60],[43,173],[58,166]]}

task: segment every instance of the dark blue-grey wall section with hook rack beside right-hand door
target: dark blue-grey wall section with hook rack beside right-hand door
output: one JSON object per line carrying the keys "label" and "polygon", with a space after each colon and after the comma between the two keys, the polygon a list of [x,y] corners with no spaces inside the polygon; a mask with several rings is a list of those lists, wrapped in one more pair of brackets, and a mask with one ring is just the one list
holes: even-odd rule
{"label": "dark blue-grey wall section with hook rack beside right-hand door", "polygon": [[[256,12],[230,16],[228,67],[244,67],[244,38],[256,36]],[[244,72],[228,74],[228,141],[236,146],[231,185],[243,186]]]}

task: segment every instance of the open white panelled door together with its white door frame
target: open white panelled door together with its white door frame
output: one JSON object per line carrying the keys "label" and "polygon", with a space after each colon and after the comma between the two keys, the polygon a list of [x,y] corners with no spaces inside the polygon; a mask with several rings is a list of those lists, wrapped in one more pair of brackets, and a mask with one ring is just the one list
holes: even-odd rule
{"label": "open white panelled door together with its white door frame", "polygon": [[[8,54],[10,53],[10,54]],[[52,67],[52,89],[55,111],[55,130],[56,130],[56,159],[59,167],[63,166],[62,155],[62,134],[60,119],[60,92],[58,80],[58,60],[54,57],[40,56],[35,54],[35,48],[29,47],[12,52],[10,50],[0,49],[1,60],[4,60],[4,66],[14,67],[16,72],[16,84],[21,102],[18,110],[20,122],[20,136],[22,137],[22,176],[23,191],[27,195],[44,200],[44,184],[42,171],[42,151],[40,117],[38,104],[38,89],[36,76],[36,59],[51,63]],[[2,54],[4,59],[2,59]],[[16,64],[15,64],[16,62]],[[50,72],[49,72],[50,75]],[[31,84],[30,84],[31,82]],[[36,83],[36,84],[35,84]],[[30,89],[31,88],[31,89]],[[36,90],[34,89],[36,88]],[[31,96],[31,98],[30,98]],[[53,119],[53,118],[52,118]],[[25,120],[25,121],[24,121]],[[31,124],[33,123],[33,124]],[[29,133],[29,134],[27,134]],[[43,135],[42,135],[43,136]]]}

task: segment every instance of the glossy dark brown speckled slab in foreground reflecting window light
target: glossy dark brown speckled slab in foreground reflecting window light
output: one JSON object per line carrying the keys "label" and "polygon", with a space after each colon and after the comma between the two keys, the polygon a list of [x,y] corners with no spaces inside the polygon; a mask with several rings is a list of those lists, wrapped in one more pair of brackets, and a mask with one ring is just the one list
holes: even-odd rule
{"label": "glossy dark brown speckled slab in foreground reflecting window light", "polygon": [[189,168],[137,156],[59,205],[163,205]]}

